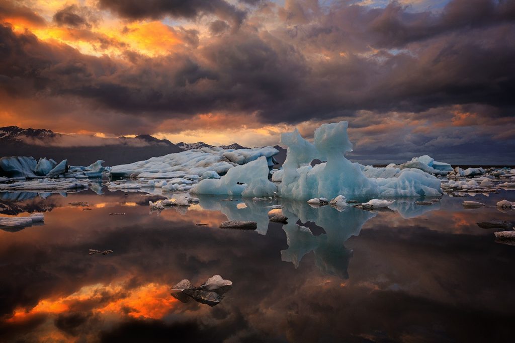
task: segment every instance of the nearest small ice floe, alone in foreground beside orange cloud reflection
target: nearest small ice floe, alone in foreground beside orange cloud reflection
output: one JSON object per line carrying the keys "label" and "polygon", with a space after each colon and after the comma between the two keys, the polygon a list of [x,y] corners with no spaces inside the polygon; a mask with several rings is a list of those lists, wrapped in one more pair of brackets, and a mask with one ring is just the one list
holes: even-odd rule
{"label": "nearest small ice floe, alone in foreground beside orange cloud reflection", "polygon": [[[213,275],[199,287],[193,286],[190,280],[184,279],[171,287],[175,291],[171,296],[182,302],[194,299],[197,302],[215,306],[224,298],[223,294],[231,289],[231,286],[232,281],[224,280],[219,275]],[[183,294],[189,298],[183,297]]]}

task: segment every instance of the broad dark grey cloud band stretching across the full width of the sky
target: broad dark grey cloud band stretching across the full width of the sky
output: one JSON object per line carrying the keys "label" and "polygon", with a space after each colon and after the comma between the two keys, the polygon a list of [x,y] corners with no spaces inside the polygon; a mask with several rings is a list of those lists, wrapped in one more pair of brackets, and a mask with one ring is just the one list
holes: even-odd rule
{"label": "broad dark grey cloud band stretching across the full width of the sky", "polygon": [[[451,3],[448,7],[451,5],[457,6]],[[345,7],[337,18],[354,15],[355,7]],[[382,16],[390,18],[391,11],[403,11],[392,8],[359,8],[365,11],[359,22],[366,23],[369,15],[369,27],[373,28],[358,33],[365,43],[367,35],[371,36],[368,44],[377,40],[377,27],[392,36],[389,40],[381,37],[379,45],[410,40],[401,35],[404,30],[397,33],[389,29],[391,21],[379,21]],[[440,20],[449,12],[446,7]],[[493,22],[499,12],[494,8],[492,18],[485,21]],[[397,19],[413,21],[405,16],[411,18],[404,13]],[[421,23],[418,25],[431,27]],[[3,28],[3,50],[8,50],[12,59],[0,68],[10,68],[11,74],[16,70],[25,80],[30,78],[27,75],[33,76],[33,82],[43,82],[54,94],[76,94],[129,112],[258,111],[268,122],[295,122],[359,109],[421,111],[478,102],[509,112],[514,105],[515,27],[511,22],[412,42],[413,52],[381,50],[364,55],[359,52],[361,47],[356,47],[346,53],[347,57],[336,55],[337,48],[344,48],[348,39],[346,27],[339,27],[336,20],[324,25],[307,25],[308,34],[291,42],[278,38],[286,32],[275,36],[241,30],[223,40],[213,38],[200,50],[145,58],[130,68],[107,57],[51,47],[29,35],[14,36],[9,28]],[[329,46],[330,59],[306,59],[302,49],[317,46]],[[205,64],[205,60],[210,63]],[[26,65],[30,65],[30,72]]]}

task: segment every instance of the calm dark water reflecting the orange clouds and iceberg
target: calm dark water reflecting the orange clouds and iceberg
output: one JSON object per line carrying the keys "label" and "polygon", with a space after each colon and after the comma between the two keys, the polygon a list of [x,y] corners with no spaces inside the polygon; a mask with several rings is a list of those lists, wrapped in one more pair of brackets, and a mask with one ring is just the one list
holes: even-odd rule
{"label": "calm dark water reflecting the orange clouds and iceberg", "polygon": [[[63,195],[0,193],[2,216],[45,212],[0,230],[2,342],[513,341],[515,246],[476,225],[515,220],[495,208],[513,191],[375,212],[210,196],[151,212],[159,197],[143,193]],[[287,225],[268,222],[281,211]],[[219,229],[227,219],[258,230]],[[170,295],[215,274],[233,286],[214,307]]]}

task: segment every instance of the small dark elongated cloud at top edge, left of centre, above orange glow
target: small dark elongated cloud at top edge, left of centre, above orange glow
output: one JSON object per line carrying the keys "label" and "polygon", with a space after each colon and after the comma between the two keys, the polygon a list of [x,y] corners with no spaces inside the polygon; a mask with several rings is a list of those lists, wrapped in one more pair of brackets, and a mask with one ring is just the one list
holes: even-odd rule
{"label": "small dark elongated cloud at top edge, left of centre, above orange glow", "polygon": [[245,19],[245,12],[238,10],[225,0],[100,0],[100,8],[132,20],[160,19],[166,15],[195,19],[203,14],[215,14],[222,19],[231,20],[240,25]]}

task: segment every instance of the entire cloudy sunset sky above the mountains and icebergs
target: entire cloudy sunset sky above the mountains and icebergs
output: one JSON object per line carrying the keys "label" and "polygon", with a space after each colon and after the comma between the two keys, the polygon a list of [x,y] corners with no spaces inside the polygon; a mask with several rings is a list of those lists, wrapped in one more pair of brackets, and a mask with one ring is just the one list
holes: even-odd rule
{"label": "entire cloudy sunset sky above the mountains and icebergs", "polygon": [[515,164],[512,0],[0,0],[0,126]]}

